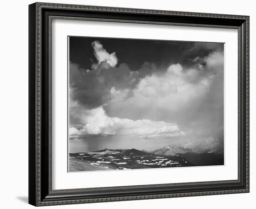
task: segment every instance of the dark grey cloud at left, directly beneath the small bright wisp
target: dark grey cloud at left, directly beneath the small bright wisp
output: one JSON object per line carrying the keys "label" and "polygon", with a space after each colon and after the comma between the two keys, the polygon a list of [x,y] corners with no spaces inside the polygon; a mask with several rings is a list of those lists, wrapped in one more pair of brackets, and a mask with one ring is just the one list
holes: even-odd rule
{"label": "dark grey cloud at left, directly beneath the small bright wisp", "polygon": [[87,108],[95,108],[107,104],[111,99],[111,89],[115,91],[127,89],[127,97],[133,95],[132,90],[138,85],[141,78],[151,75],[155,66],[145,63],[139,72],[133,72],[128,65],[120,64],[111,67],[102,61],[96,70],[79,68],[77,64],[70,63],[70,88],[72,99]]}

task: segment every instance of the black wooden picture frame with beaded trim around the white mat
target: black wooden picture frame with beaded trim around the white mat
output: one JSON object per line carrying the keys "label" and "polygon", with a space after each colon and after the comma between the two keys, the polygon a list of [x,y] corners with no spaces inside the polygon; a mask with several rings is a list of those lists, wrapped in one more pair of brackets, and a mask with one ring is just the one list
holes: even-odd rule
{"label": "black wooden picture frame with beaded trim around the white mat", "polygon": [[[238,29],[238,179],[230,181],[52,190],[51,20],[98,20]],[[249,16],[29,5],[29,203],[35,206],[249,192]]]}

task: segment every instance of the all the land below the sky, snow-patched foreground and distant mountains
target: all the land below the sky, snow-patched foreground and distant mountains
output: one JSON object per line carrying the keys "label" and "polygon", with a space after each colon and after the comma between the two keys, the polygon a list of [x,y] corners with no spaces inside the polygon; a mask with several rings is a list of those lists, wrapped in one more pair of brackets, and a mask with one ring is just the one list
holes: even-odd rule
{"label": "all the land below the sky, snow-patched foreground and distant mountains", "polygon": [[127,170],[224,164],[224,143],[216,138],[171,144],[154,151],[104,149],[69,153],[69,171]]}

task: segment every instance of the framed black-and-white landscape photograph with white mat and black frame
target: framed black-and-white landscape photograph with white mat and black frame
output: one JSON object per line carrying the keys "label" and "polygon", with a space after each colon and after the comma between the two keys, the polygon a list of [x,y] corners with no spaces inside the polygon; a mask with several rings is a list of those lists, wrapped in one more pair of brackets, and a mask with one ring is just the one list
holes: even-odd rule
{"label": "framed black-and-white landscape photograph with white mat and black frame", "polygon": [[29,5],[29,203],[249,192],[249,16]]}

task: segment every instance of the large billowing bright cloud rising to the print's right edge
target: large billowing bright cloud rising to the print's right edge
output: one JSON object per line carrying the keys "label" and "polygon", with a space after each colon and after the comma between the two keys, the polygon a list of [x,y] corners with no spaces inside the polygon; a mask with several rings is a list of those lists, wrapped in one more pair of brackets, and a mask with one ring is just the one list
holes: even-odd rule
{"label": "large billowing bright cloud rising to the print's right edge", "polygon": [[178,104],[180,106],[189,100],[202,98],[209,91],[213,79],[223,70],[223,52],[210,53],[204,61],[204,69],[200,63],[198,69],[183,69],[182,65],[173,64],[165,73],[146,76],[134,91],[135,99],[152,98],[155,101],[153,104],[160,103],[160,100],[164,103],[169,101],[168,104],[178,107]]}

